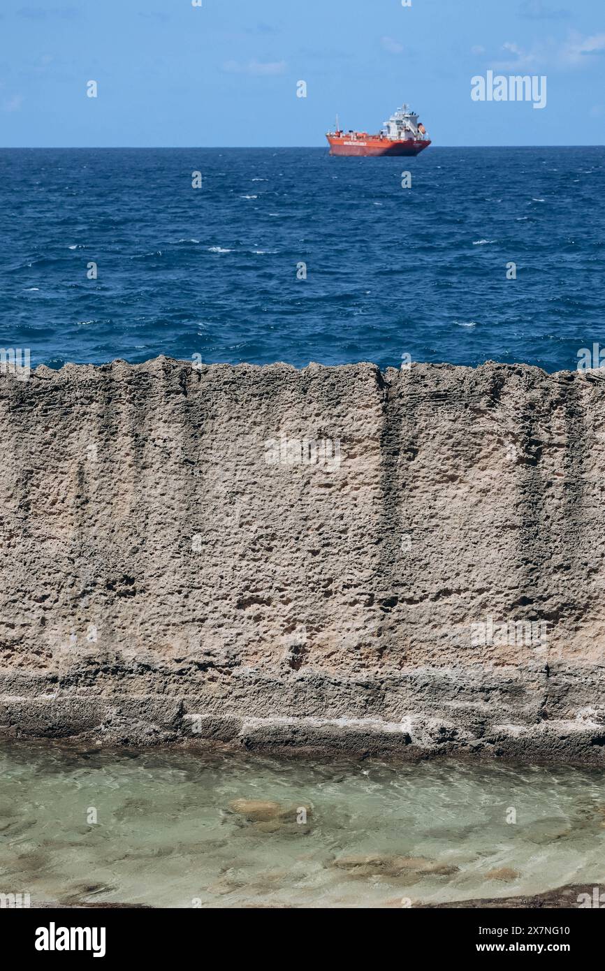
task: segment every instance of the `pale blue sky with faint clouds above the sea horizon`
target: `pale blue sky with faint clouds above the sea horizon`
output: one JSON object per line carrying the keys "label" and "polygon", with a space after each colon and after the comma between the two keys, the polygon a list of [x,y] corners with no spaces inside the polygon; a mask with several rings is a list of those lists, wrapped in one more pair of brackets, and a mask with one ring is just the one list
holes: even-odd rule
{"label": "pale blue sky with faint clouds above the sea horizon", "polygon": [[[0,147],[320,146],[403,102],[435,146],[604,142],[605,0],[196,2],[0,0]],[[546,107],[472,100],[487,70]]]}

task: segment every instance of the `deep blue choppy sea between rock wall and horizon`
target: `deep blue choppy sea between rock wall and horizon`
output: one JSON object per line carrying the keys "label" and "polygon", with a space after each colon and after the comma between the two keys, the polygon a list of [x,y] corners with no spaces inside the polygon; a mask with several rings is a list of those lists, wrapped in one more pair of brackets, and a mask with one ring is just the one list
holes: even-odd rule
{"label": "deep blue choppy sea between rock wall and horizon", "polygon": [[601,147],[2,150],[0,347],[574,368],[605,340],[604,198]]}

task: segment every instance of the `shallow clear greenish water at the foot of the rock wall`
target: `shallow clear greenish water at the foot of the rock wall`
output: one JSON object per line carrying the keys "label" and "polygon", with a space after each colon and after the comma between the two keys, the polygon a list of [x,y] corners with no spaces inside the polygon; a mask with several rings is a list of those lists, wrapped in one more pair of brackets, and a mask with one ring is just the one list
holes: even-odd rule
{"label": "shallow clear greenish water at the foot of the rock wall", "polygon": [[414,906],[605,883],[600,770],[5,743],[0,779],[0,892],[32,905]]}

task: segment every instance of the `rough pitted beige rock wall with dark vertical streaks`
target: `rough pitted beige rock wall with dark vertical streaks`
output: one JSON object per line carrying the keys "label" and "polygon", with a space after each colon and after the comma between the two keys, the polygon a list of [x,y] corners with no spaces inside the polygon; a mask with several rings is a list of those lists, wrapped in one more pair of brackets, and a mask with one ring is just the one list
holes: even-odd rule
{"label": "rough pitted beige rock wall with dark vertical streaks", "polygon": [[604,374],[1,376],[2,731],[603,764]]}

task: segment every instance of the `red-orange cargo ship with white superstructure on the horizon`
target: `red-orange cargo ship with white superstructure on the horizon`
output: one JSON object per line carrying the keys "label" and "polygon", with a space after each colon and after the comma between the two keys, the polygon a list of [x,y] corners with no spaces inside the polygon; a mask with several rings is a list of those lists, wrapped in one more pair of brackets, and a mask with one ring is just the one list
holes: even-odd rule
{"label": "red-orange cargo ship with white superstructure on the horizon", "polygon": [[336,130],[326,132],[330,155],[418,155],[430,145],[426,128],[408,105],[385,121],[378,135],[367,131],[343,131],[336,117]]}

